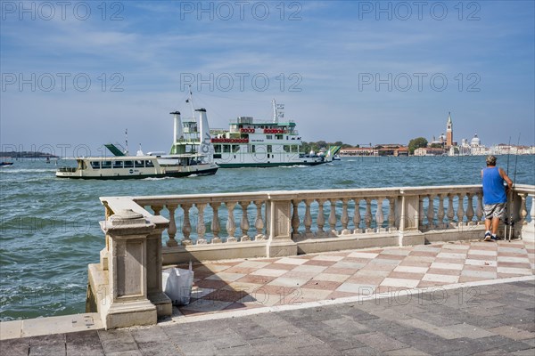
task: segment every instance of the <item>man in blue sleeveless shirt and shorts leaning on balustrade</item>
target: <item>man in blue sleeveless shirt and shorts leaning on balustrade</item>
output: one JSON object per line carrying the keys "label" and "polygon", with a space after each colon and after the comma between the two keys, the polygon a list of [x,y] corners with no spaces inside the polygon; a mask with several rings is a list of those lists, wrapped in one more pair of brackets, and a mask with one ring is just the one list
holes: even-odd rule
{"label": "man in blue sleeveless shirt and shorts leaning on balustrade", "polygon": [[[487,168],[481,170],[483,183],[483,209],[485,212],[485,241],[498,240],[499,220],[506,210],[507,193],[513,188],[513,181],[506,172],[496,166],[496,157],[487,157]],[[507,188],[504,185],[507,182]]]}

